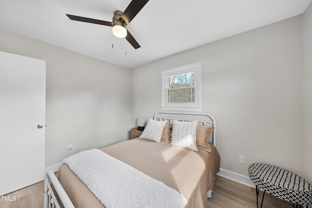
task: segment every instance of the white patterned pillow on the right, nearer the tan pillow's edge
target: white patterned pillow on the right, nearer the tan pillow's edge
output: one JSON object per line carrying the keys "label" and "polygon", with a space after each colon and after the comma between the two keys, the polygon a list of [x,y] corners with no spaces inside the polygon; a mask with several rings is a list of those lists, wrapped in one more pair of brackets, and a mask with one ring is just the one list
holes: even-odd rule
{"label": "white patterned pillow on the right, nearer the tan pillow's edge", "polygon": [[197,123],[198,121],[179,122],[174,120],[170,144],[176,147],[198,151],[196,146]]}

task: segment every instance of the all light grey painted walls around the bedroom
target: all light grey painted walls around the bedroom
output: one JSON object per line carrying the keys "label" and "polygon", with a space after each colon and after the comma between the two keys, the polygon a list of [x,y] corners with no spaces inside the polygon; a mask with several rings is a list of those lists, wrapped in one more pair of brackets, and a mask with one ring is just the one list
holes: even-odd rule
{"label": "all light grey painted walls around the bedroom", "polygon": [[[248,175],[248,165],[265,162],[311,181],[311,7],[131,72],[2,29],[0,50],[47,61],[46,167],[127,139],[137,116],[160,110],[160,71],[201,61],[203,112],[218,122],[221,168]],[[239,154],[246,165],[238,164]]]}

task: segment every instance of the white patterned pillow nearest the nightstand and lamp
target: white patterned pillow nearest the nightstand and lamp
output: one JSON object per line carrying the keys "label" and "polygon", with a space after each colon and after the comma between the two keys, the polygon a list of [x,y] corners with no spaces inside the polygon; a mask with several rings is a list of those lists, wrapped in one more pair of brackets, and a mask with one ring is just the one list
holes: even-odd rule
{"label": "white patterned pillow nearest the nightstand and lamp", "polygon": [[167,121],[155,121],[150,118],[145,126],[145,129],[140,135],[140,138],[160,142],[166,122]]}

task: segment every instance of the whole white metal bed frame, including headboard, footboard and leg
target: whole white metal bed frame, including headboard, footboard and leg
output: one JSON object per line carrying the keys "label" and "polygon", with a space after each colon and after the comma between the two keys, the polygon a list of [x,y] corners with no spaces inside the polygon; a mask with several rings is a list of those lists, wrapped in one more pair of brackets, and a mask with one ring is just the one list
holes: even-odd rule
{"label": "whole white metal bed frame, including headboard, footboard and leg", "polygon": [[[166,116],[160,116],[160,115],[166,115]],[[169,116],[168,116],[169,115]],[[170,115],[180,115],[182,117],[174,118]],[[183,118],[183,116],[192,117],[189,118]],[[204,117],[205,119],[199,120],[197,117]],[[208,119],[207,119],[208,118]],[[178,121],[195,121],[198,120],[198,123],[202,123],[202,125],[210,124],[213,127],[215,127],[215,118],[208,114],[208,113],[186,113],[186,112],[164,112],[159,111],[154,114],[154,120],[168,120],[169,123],[171,123],[173,120]],[[212,135],[212,143],[216,144],[215,139],[215,130]],[[56,195],[56,193],[57,195]],[[207,192],[207,197],[211,198],[212,190],[209,190]],[[54,174],[53,171],[49,170],[45,175],[44,180],[44,208],[61,208],[58,202],[58,198],[61,201],[64,208],[75,208],[73,203],[71,202],[70,198],[68,197],[67,193],[63,189],[62,185],[59,183],[58,178]]]}

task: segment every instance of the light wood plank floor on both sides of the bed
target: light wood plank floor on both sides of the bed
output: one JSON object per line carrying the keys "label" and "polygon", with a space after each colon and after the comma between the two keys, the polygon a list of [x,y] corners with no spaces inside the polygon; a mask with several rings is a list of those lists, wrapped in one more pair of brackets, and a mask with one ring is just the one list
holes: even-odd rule
{"label": "light wood plank floor on both sides of the bed", "polygon": [[[5,196],[11,196],[11,199],[15,196],[16,200],[4,201],[0,198],[0,208],[43,208],[43,191],[43,181],[14,191]],[[261,203],[261,191],[258,199]],[[208,199],[208,204],[208,208],[256,208],[255,189],[216,176],[215,189],[212,198]],[[262,208],[292,208],[292,204],[266,193]]]}

